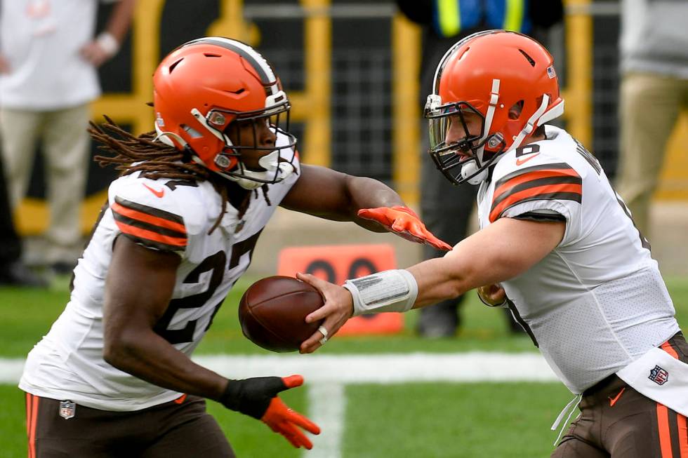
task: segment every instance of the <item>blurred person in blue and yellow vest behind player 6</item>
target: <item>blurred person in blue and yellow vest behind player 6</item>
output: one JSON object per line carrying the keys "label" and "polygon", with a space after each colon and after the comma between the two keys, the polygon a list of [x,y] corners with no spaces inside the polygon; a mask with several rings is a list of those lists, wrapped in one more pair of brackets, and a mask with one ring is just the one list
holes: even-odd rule
{"label": "blurred person in blue and yellow vest behind player 6", "polygon": [[[396,0],[406,18],[423,29],[420,103],[432,93],[437,62],[454,43],[485,29],[508,29],[545,41],[547,30],[563,18],[561,0]],[[428,126],[422,123],[421,217],[428,229],[450,245],[468,235],[468,221],[475,204],[477,187],[454,187],[437,173],[435,163],[425,154]],[[444,252],[423,247],[423,258],[444,256]],[[421,309],[417,332],[421,337],[453,337],[461,325],[459,307],[463,295]],[[508,309],[510,330],[521,332]]]}

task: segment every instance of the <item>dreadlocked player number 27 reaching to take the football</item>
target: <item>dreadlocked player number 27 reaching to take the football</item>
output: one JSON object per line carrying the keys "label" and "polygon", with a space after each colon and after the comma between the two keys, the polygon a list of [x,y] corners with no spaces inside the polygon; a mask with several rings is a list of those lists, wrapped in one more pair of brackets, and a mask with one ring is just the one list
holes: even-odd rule
{"label": "dreadlocked player number 27 reaching to take the football", "polygon": [[277,397],[303,377],[227,379],[190,359],[275,208],[451,247],[385,184],[301,164],[289,98],[250,46],[185,43],[153,86],[154,132],[93,126],[114,154],[98,160],[122,174],[70,302],[27,358],[29,456],[234,456],[204,398],[310,449],[301,429],[318,426]]}

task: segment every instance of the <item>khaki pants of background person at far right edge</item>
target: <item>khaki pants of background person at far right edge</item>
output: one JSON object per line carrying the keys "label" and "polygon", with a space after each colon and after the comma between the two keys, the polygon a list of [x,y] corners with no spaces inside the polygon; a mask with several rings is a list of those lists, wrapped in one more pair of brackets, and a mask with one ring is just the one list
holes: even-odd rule
{"label": "khaki pants of background person at far right edge", "polygon": [[664,151],[681,109],[688,109],[688,79],[641,73],[621,79],[617,189],[645,236]]}

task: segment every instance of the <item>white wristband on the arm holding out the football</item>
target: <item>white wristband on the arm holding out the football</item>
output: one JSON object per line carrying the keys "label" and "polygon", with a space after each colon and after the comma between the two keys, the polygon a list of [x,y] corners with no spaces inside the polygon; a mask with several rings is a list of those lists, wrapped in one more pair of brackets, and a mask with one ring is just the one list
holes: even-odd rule
{"label": "white wristband on the arm holding out the football", "polygon": [[418,296],[418,283],[404,269],[385,270],[344,282],[354,299],[354,316],[408,311]]}

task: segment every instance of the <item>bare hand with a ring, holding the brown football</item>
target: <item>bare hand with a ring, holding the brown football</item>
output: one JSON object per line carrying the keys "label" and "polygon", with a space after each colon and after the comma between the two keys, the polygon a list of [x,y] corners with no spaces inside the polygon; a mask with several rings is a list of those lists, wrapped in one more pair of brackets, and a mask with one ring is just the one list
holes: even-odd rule
{"label": "bare hand with a ring, holding the brown football", "polygon": [[323,306],[308,314],[305,320],[306,323],[324,320],[320,328],[324,328],[327,335],[317,330],[312,336],[301,342],[301,346],[298,349],[299,353],[313,353],[323,346],[327,339],[330,339],[351,318],[354,314],[354,302],[349,290],[321,280],[317,276],[298,273],[296,278],[312,285],[325,299]]}

